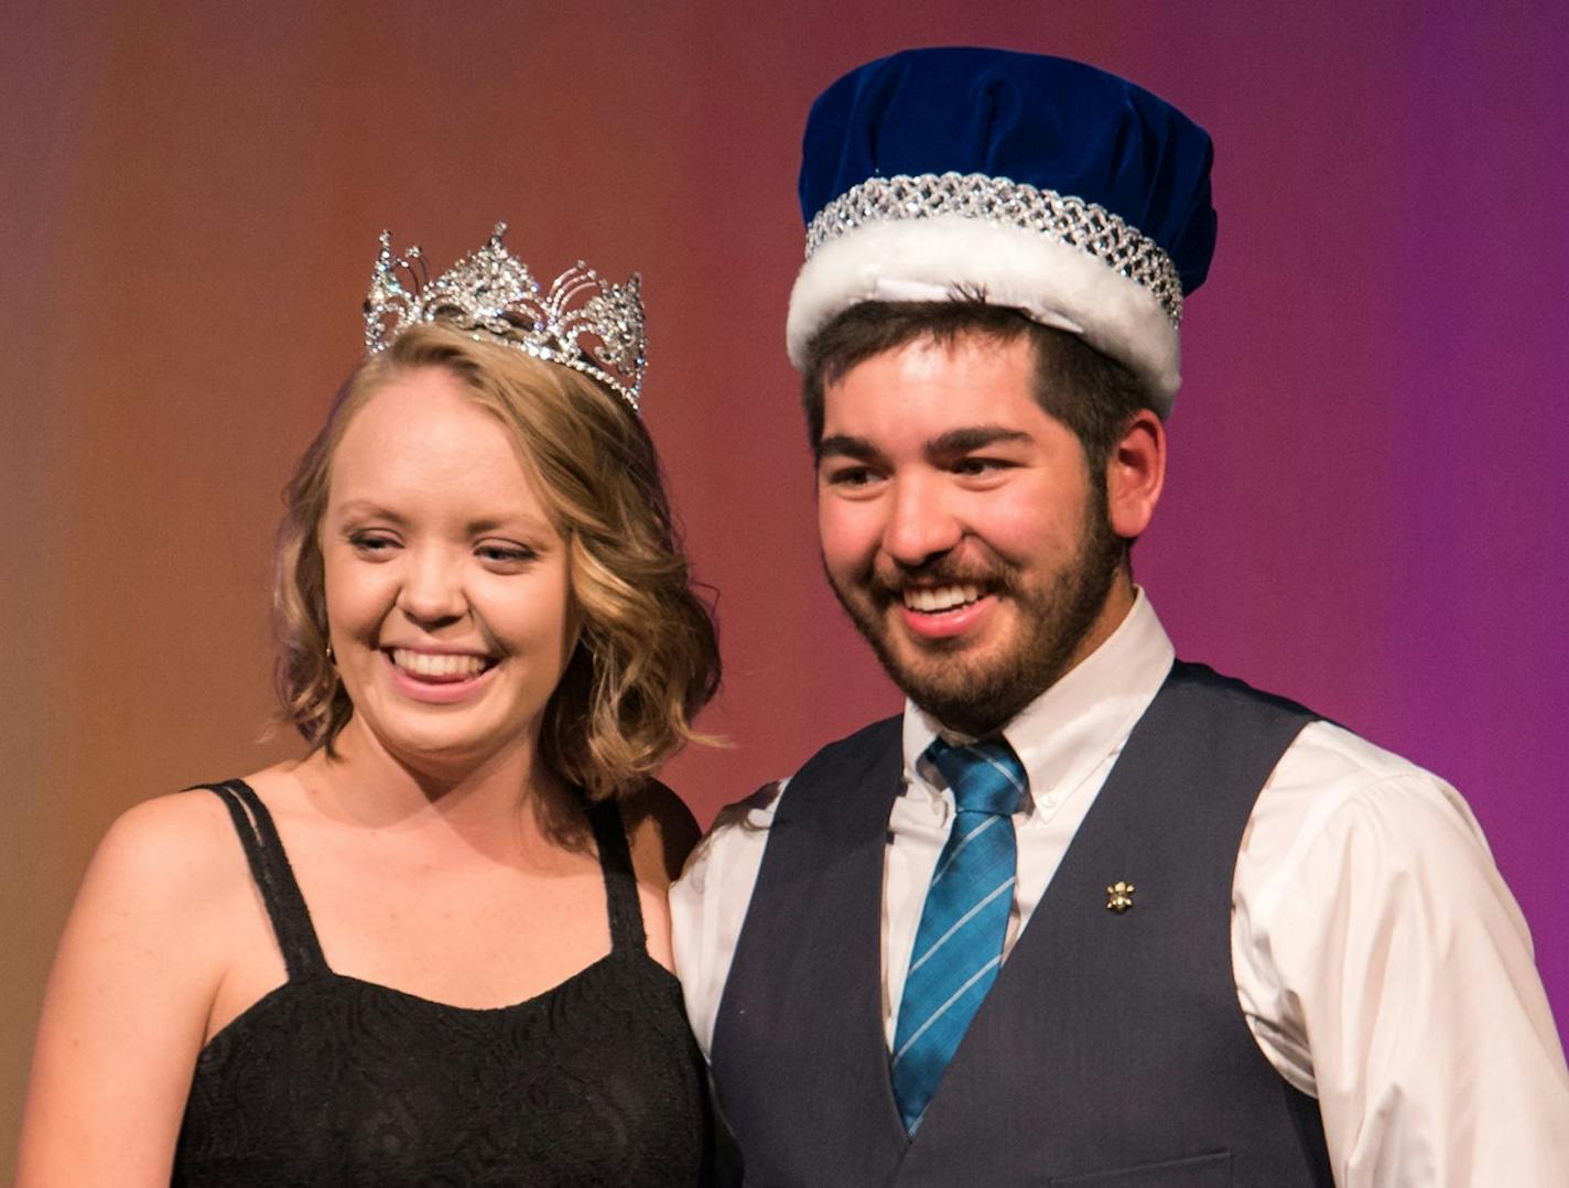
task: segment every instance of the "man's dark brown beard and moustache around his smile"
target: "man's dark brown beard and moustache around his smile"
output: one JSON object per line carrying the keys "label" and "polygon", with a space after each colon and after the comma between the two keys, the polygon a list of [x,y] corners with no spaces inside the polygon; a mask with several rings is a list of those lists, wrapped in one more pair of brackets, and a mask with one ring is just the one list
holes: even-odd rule
{"label": "man's dark brown beard and moustache around his smile", "polygon": [[1012,601],[1017,629],[1001,656],[965,656],[962,639],[923,640],[913,658],[897,654],[886,612],[902,603],[899,584],[868,570],[846,582],[847,589],[830,571],[828,585],[893,683],[945,727],[979,738],[1009,722],[1068,670],[1127,560],[1127,541],[1111,527],[1105,496],[1092,494],[1086,502],[1078,548],[1043,584],[1026,585],[1020,567],[1003,560],[977,570],[941,557],[899,574],[974,582]]}

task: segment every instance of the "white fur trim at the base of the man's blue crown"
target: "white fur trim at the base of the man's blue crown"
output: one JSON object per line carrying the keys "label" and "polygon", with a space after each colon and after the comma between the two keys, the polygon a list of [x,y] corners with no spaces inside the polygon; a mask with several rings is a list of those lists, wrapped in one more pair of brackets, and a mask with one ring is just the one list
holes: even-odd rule
{"label": "white fur trim at the base of the man's blue crown", "polygon": [[977,293],[1079,334],[1149,386],[1156,413],[1170,413],[1181,352],[1177,326],[1149,289],[1072,243],[965,215],[866,223],[817,248],[789,298],[791,363],[803,367],[813,336],[860,301]]}

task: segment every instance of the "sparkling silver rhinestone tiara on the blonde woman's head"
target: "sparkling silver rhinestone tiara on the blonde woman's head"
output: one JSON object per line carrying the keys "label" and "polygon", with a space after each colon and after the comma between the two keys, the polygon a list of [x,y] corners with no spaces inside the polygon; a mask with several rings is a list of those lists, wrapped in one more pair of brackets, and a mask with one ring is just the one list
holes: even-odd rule
{"label": "sparkling silver rhinestone tiara on the blonde woman's head", "polygon": [[366,293],[366,353],[386,350],[410,326],[441,322],[592,375],[637,413],[648,366],[642,278],[610,284],[577,261],[541,297],[527,265],[502,246],[505,232],[497,223],[485,246],[430,279],[419,246],[395,256],[392,232],[383,231]]}

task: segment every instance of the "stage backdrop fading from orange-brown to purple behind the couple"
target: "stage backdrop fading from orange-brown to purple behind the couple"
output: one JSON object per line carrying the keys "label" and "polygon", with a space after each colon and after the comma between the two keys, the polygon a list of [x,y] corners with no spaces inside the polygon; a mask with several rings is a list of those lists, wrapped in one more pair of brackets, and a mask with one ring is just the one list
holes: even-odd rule
{"label": "stage backdrop fading from orange-brown to purple behind the couple", "polygon": [[1139,581],[1183,656],[1465,793],[1563,1020],[1566,28],[1556,0],[6,6],[0,1168],[105,825],[293,749],[262,741],[278,491],[383,228],[444,265],[505,218],[546,275],[642,270],[725,645],[703,725],[733,747],[667,774],[701,821],[897,708],[819,574],[781,337],[806,105],[919,44],[1084,58],[1214,135]]}

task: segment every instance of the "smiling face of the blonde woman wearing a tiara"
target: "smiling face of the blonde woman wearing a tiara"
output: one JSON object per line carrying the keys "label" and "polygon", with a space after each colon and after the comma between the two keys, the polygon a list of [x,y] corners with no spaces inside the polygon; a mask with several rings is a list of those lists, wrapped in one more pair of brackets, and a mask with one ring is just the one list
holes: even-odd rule
{"label": "smiling face of the blonde woman wearing a tiara", "polygon": [[577,642],[566,541],[452,372],[397,375],[353,414],[319,534],[347,731],[422,771],[535,745]]}

